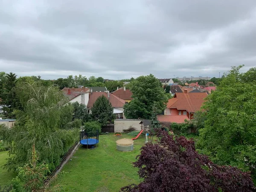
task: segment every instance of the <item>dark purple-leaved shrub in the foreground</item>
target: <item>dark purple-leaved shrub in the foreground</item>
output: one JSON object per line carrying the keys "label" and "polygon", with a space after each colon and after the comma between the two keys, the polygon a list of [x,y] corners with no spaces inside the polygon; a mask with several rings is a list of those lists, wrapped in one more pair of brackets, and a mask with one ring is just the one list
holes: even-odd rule
{"label": "dark purple-leaved shrub in the foreground", "polygon": [[218,166],[195,151],[193,140],[158,133],[158,145],[147,143],[134,166],[143,181],[122,192],[252,192],[256,189],[250,172],[231,166]]}

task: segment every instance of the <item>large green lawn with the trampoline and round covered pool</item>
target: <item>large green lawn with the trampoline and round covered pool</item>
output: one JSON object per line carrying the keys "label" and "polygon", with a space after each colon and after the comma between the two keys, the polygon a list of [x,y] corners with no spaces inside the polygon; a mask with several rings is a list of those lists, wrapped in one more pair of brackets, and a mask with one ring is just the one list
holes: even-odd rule
{"label": "large green lawn with the trampoline and round covered pool", "polygon": [[98,148],[79,148],[52,186],[60,185],[66,192],[118,192],[122,186],[140,183],[132,162],[140,154],[144,137],[134,140],[134,150],[130,152],[116,150],[118,139],[112,134],[100,135]]}

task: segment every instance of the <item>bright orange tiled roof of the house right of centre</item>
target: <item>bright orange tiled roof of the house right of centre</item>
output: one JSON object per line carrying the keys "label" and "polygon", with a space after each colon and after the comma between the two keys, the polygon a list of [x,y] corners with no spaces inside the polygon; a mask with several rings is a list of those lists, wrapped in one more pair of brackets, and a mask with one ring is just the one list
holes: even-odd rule
{"label": "bright orange tiled roof of the house right of centre", "polygon": [[169,99],[167,108],[177,108],[177,110],[186,110],[190,113],[198,111],[207,93],[176,93],[174,98]]}

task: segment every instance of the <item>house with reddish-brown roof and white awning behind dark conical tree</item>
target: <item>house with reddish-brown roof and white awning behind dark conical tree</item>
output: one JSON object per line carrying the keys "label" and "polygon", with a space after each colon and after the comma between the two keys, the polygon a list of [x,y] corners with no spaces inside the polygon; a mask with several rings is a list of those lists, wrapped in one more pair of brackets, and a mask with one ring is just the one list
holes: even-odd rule
{"label": "house with reddish-brown roof and white awning behind dark conical tree", "polygon": [[87,104],[89,113],[91,113],[90,109],[93,107],[93,104],[102,95],[105,96],[111,103],[112,107],[114,108],[113,113],[116,114],[116,118],[123,119],[124,118],[123,106],[125,105],[125,100],[118,98],[117,96],[113,95],[112,93],[109,93],[109,91],[90,92],[89,102]]}

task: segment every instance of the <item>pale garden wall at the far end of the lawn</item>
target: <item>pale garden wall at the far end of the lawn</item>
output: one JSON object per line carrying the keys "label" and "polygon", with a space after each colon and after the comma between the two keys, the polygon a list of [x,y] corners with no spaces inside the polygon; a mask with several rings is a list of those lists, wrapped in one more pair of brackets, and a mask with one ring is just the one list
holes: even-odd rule
{"label": "pale garden wall at the far end of the lawn", "polygon": [[143,119],[115,119],[114,126],[115,132],[124,132],[124,130],[133,127],[136,131],[141,130],[140,122]]}

